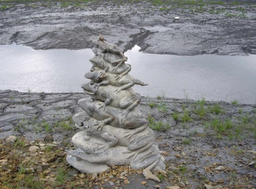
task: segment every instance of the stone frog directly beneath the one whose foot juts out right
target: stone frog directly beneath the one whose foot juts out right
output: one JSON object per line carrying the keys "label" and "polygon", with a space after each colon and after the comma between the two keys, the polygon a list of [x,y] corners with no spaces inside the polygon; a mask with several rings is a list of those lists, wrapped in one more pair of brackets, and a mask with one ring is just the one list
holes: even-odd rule
{"label": "stone frog directly beneath the one whose foot juts out right", "polygon": [[[106,106],[124,109],[121,115],[127,114],[140,103],[140,95],[135,93],[132,88],[122,90],[118,95],[113,91],[118,90],[118,87],[108,85],[100,86],[98,89],[95,87],[95,82],[91,81],[82,84],[83,91],[90,95],[92,98],[99,100],[102,105],[99,107],[105,110]],[[118,111],[119,112],[119,111]]]}

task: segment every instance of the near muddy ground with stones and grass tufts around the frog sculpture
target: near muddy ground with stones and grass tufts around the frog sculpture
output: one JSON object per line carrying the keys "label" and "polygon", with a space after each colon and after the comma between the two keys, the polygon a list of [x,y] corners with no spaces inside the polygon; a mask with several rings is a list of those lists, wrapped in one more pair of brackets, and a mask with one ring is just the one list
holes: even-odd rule
{"label": "near muddy ground with stones and grass tufts around the frog sculpture", "polygon": [[256,104],[142,98],[166,160],[157,183],[128,166],[92,175],[67,164],[81,98],[89,97],[0,91],[1,188],[255,188]]}

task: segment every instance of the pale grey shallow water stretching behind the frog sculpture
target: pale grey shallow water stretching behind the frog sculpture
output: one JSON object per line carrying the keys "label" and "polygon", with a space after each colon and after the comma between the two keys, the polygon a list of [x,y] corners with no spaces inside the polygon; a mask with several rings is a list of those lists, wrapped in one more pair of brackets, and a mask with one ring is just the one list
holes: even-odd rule
{"label": "pale grey shallow water stretching behind the frog sculpture", "polygon": [[[134,86],[142,96],[205,97],[256,103],[256,55],[175,56],[127,51],[130,74],[148,86]],[[0,89],[20,92],[82,92],[84,74],[94,54],[84,50],[33,50],[23,45],[0,46]]]}

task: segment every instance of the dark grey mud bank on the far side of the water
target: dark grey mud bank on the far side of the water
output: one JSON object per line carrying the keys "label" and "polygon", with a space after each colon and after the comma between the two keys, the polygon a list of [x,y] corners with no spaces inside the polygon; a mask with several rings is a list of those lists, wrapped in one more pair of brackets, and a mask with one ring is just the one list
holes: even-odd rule
{"label": "dark grey mud bank on the far side of the water", "polygon": [[255,1],[129,2],[1,1],[0,44],[84,49],[101,33],[124,51],[137,44],[154,54],[256,54]]}

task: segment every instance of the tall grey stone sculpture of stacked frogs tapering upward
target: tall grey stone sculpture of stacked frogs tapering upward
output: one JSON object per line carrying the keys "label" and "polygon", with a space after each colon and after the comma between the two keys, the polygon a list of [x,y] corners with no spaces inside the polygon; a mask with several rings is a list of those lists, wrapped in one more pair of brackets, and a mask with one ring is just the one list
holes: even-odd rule
{"label": "tall grey stone sculpture of stacked frogs tapering upward", "polygon": [[93,41],[93,66],[82,84],[91,96],[78,101],[81,112],[73,116],[82,129],[72,137],[76,150],[68,150],[67,161],[81,172],[99,173],[109,166],[131,164],[133,169],[164,170],[164,158],[154,145],[154,132],[136,107],[140,95],[131,88],[147,85],[128,73],[131,65],[117,47],[100,35]]}

